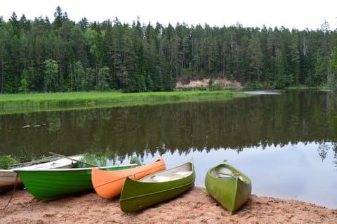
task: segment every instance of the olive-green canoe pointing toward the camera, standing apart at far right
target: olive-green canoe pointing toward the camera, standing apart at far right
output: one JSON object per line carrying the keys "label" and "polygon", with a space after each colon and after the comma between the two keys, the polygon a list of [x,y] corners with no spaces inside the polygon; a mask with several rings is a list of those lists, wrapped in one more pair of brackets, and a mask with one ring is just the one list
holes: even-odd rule
{"label": "olive-green canoe pointing toward the camera, standing apart at far right", "polygon": [[251,179],[227,161],[207,171],[205,185],[209,194],[230,213],[237,211],[251,195]]}

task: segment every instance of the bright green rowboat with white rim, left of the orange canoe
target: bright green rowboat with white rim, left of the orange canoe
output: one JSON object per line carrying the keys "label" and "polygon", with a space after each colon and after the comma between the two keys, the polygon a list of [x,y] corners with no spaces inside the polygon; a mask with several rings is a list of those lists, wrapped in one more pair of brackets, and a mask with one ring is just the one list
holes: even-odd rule
{"label": "bright green rowboat with white rim, left of the orange canoe", "polygon": [[[137,166],[105,166],[99,169],[122,170]],[[77,192],[93,190],[91,168],[70,169],[14,169],[19,174],[27,190],[37,199],[53,200]]]}

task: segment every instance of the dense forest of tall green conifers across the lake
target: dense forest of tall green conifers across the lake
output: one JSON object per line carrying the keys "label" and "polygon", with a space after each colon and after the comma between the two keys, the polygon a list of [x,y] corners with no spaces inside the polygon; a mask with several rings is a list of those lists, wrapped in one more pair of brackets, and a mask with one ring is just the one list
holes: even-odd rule
{"label": "dense forest of tall green conifers across the lake", "polygon": [[[176,81],[336,89],[337,31],[0,16],[0,93],[173,91]],[[210,82],[211,82],[210,81]],[[210,83],[211,84],[211,83]]]}

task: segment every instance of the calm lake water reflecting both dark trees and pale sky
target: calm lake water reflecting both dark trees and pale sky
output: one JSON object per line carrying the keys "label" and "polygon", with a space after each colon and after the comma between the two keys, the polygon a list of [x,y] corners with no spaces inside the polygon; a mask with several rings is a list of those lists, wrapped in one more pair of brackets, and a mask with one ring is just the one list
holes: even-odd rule
{"label": "calm lake water reflecting both dark trees and pale sky", "polygon": [[193,158],[196,185],[227,159],[258,196],[337,208],[337,107],[326,91],[255,92],[231,101],[0,116],[0,152],[117,152],[120,163],[159,154],[167,168]]}

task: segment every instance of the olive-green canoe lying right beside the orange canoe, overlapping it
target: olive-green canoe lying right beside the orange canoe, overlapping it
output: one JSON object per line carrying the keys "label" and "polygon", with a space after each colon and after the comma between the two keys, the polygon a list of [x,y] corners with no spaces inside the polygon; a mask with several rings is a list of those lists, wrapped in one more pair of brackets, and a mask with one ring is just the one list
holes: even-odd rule
{"label": "olive-green canoe lying right beside the orange canoe, overlapping it", "polygon": [[183,194],[194,185],[193,162],[152,173],[140,180],[126,178],[119,204],[121,211],[133,213]]}

